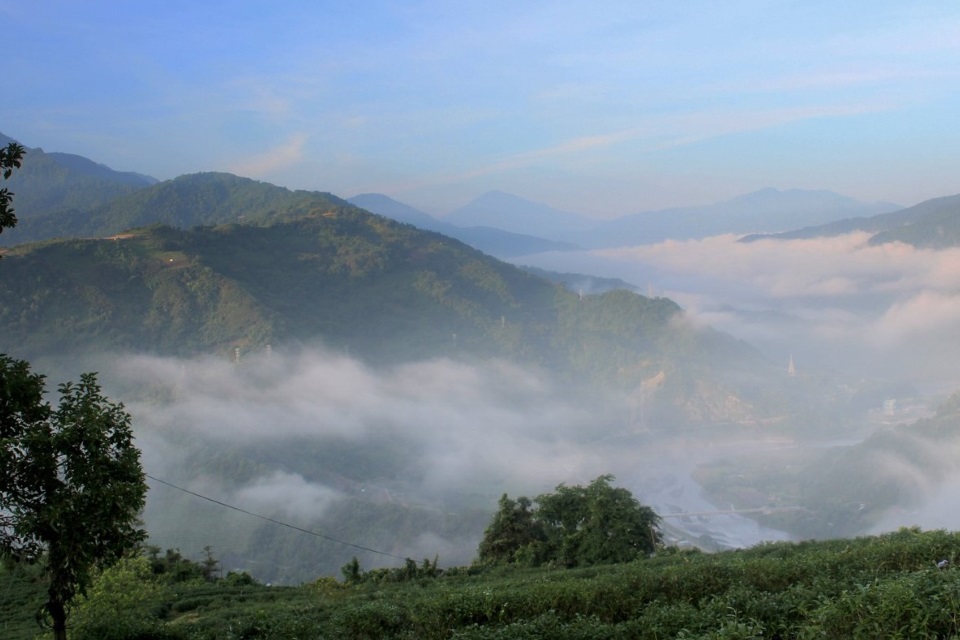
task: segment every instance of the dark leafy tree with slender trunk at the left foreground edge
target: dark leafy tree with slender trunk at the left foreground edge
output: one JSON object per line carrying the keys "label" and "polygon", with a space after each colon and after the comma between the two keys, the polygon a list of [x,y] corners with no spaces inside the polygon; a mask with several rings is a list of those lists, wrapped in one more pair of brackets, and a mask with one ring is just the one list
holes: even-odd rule
{"label": "dark leafy tree with slender trunk at the left foreground edge", "polygon": [[70,603],[93,571],[144,540],[147,485],[130,415],[95,374],[59,391],[54,408],[44,376],[0,355],[0,555],[41,564],[44,612],[64,640]]}

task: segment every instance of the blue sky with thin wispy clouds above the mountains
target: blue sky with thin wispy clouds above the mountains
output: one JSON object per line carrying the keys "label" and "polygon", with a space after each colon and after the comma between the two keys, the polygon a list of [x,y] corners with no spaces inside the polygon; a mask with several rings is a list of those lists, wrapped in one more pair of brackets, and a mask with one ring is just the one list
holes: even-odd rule
{"label": "blue sky with thin wispy clouds above the mountains", "polygon": [[960,3],[0,0],[0,131],[443,214],[960,192]]}

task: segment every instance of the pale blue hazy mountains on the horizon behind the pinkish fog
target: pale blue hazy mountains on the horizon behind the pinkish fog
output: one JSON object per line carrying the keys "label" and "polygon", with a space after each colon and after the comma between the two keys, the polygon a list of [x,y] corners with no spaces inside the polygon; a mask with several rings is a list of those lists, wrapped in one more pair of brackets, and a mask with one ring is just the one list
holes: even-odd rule
{"label": "pale blue hazy mountains on the horizon behind the pinkish fog", "polygon": [[[743,242],[761,238],[802,239],[853,231],[874,234],[871,242],[904,242],[940,249],[960,245],[960,195],[934,198],[908,208],[889,202],[865,203],[830,191],[761,189],[725,202],[632,214],[597,221],[559,211],[502,192],[489,192],[438,220],[379,194],[351,199],[370,211],[430,228],[489,251],[513,258],[542,251],[599,249],[687,240],[720,234],[745,234]],[[467,233],[458,224],[485,225]],[[524,232],[511,244],[498,246]],[[486,239],[479,230],[487,230]],[[766,229],[767,232],[758,230]],[[780,231],[773,231],[779,229]],[[545,240],[549,238],[549,240]],[[554,243],[551,245],[551,243]]]}

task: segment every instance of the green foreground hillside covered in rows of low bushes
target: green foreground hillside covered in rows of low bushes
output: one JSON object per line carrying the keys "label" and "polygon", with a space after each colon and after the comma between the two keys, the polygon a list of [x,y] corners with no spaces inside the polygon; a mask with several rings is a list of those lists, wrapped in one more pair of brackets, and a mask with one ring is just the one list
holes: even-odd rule
{"label": "green foreground hillside covered in rows of low bushes", "polygon": [[[765,544],[703,554],[665,549],[586,569],[460,568],[424,561],[299,587],[126,561],[73,618],[76,640],[232,638],[640,639],[954,638],[960,536],[903,529],[879,537]],[[162,560],[162,557],[161,557]],[[0,573],[29,601],[29,575]],[[33,596],[34,598],[37,595]],[[32,626],[33,625],[33,626]],[[27,610],[0,611],[5,638],[29,640]]]}

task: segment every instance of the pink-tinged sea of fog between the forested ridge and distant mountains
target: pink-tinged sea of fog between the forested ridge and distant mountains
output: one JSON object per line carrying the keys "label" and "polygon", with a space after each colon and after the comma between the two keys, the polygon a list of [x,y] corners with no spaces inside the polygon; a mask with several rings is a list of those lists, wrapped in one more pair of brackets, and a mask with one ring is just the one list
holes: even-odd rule
{"label": "pink-tinged sea of fog between the forested ridge and distant mountains", "polygon": [[869,244],[857,232],[810,240],[702,240],[515,260],[622,278],[799,370],[960,389],[960,249]]}

